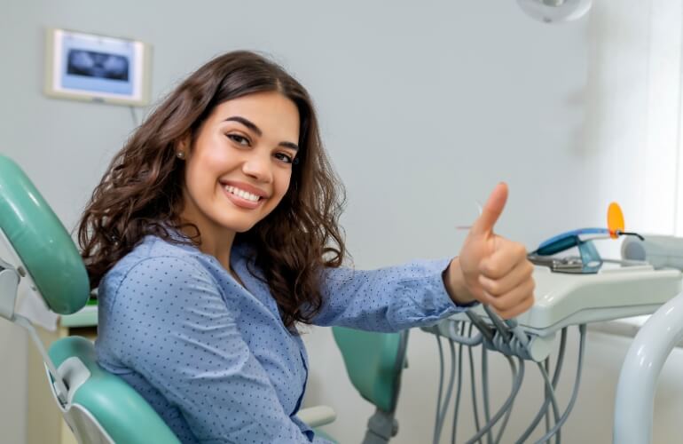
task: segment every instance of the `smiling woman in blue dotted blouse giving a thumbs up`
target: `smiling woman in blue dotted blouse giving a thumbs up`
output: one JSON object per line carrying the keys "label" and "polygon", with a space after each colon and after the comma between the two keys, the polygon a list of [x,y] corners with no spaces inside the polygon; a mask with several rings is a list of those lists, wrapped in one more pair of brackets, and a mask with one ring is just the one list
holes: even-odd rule
{"label": "smiling woman in blue dotted blouse giving a thumbs up", "polygon": [[396,331],[533,303],[524,248],[492,233],[506,186],[458,258],[372,272],[341,266],[340,189],[308,93],[252,52],[200,67],[114,157],[79,229],[98,361],[183,442],[314,440],[299,323]]}

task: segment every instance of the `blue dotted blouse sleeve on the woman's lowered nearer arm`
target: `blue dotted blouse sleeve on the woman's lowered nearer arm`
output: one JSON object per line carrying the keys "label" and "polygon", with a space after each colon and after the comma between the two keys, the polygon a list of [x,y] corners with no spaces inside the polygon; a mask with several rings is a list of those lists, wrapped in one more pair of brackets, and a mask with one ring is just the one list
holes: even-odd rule
{"label": "blue dotted blouse sleeve on the woman's lowered nearer arm", "polygon": [[[310,443],[240,335],[239,307],[181,258],[148,258],[117,289],[119,359],[177,406],[200,442]],[[117,338],[118,339],[118,338]]]}

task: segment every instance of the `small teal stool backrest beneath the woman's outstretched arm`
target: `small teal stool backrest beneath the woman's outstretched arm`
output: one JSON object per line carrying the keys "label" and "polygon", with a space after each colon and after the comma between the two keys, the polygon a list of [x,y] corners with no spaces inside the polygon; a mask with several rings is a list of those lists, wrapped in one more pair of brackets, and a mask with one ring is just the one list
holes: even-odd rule
{"label": "small teal stool backrest beneath the woman's outstretched arm", "polygon": [[393,413],[401,387],[408,332],[375,333],[334,327],[351,384],[377,408]]}

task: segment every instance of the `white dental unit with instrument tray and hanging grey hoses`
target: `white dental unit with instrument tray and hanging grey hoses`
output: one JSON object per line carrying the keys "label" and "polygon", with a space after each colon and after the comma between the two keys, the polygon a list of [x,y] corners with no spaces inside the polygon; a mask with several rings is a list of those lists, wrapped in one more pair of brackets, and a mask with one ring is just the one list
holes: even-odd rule
{"label": "white dental unit with instrument tray and hanging grey hoses", "polygon": [[[624,232],[623,216],[616,204],[610,205],[608,210],[608,226],[554,236],[529,253],[528,258],[535,265],[536,300],[530,310],[517,318],[503,320],[491,307],[477,305],[434,327],[423,328],[436,335],[440,358],[433,442],[439,442],[453,398],[451,441],[456,441],[463,365],[466,364],[463,358],[467,351],[476,432],[462,442],[542,443],[554,440],[560,443],[561,426],[577,400],[584,366],[586,325],[656,313],[641,329],[640,333],[647,336],[636,337],[624,361],[617,387],[614,426],[615,443],[650,442],[658,370],[672,347],[683,338],[683,316],[676,314],[681,318],[677,323],[662,321],[667,315],[671,318],[671,308],[666,308],[668,314],[660,313],[672,304],[681,305],[675,313],[683,311],[683,296],[677,297],[683,289],[683,239]],[[625,237],[622,258],[601,258],[594,241],[621,236]],[[660,307],[662,309],[658,311]],[[653,323],[657,325],[651,325]],[[569,401],[561,405],[556,389],[564,363],[568,330],[572,326],[577,326],[579,336],[577,369]],[[447,380],[443,339],[450,352]],[[477,397],[473,353],[477,347],[481,347],[481,400]],[[633,350],[635,347],[639,350]],[[510,393],[495,409],[491,405],[488,374],[490,352],[504,355],[512,375]],[[650,365],[652,369],[646,368],[648,364],[653,364]],[[545,397],[524,432],[518,436],[506,436],[504,433],[514,400],[520,392],[525,367],[529,365],[538,369]],[[634,386],[638,388],[634,389]],[[481,410],[483,417],[480,417]],[[538,432],[542,422],[545,430]],[[535,438],[530,440],[532,435]]]}

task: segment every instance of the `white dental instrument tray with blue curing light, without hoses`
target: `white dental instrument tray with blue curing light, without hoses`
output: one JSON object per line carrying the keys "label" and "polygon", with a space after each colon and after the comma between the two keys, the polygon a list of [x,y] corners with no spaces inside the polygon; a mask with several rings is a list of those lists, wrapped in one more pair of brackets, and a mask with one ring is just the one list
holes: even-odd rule
{"label": "white dental instrument tray with blue curing light, without hoses", "polygon": [[[522,329],[543,337],[569,325],[654,313],[679,294],[679,270],[601,258],[593,242],[624,235],[643,241],[640,234],[620,229],[582,228],[553,236],[530,252],[536,301],[517,317]],[[578,256],[569,256],[575,247]]]}

